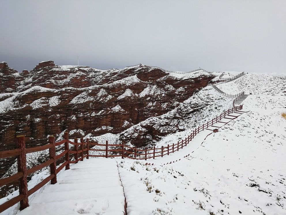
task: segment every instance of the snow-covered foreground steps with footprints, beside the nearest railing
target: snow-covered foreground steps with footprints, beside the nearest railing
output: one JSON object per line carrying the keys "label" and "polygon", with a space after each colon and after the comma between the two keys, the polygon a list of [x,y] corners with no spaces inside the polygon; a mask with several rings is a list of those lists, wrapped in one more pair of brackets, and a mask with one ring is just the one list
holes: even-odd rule
{"label": "snow-covered foreground steps with footprints, beside the nearest railing", "polygon": [[57,183],[44,186],[19,215],[124,215],[125,197],[115,159],[90,158],[57,174]]}

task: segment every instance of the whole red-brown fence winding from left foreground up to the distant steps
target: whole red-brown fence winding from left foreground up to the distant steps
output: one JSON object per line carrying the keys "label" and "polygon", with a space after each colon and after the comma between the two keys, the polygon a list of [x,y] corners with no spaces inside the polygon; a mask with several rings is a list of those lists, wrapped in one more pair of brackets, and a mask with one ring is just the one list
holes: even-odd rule
{"label": "whole red-brown fence winding from left foreground up to the distant steps", "polygon": [[[89,139],[86,139],[86,142],[84,142],[83,138],[80,138],[80,142],[78,142],[77,138],[74,139],[74,142],[72,142],[69,140],[68,132],[64,133],[64,140],[55,142],[54,136],[50,136],[48,138],[48,144],[40,147],[33,147],[26,149],[25,136],[24,135],[16,136],[17,149],[0,152],[0,159],[16,156],[18,164],[18,173],[0,179],[0,187],[10,184],[13,181],[19,180],[19,195],[13,197],[12,199],[0,205],[0,213],[6,210],[7,208],[15,205],[19,201],[20,201],[20,210],[23,210],[24,208],[28,207],[29,206],[28,197],[37,190],[39,190],[40,188],[42,188],[49,181],[51,181],[51,184],[57,183],[57,173],[59,173],[59,171],[62,170],[64,167],[65,170],[69,169],[69,165],[72,163],[78,163],[79,161],[83,161],[84,158],[89,159],[89,157],[106,157],[106,158],[127,157],[138,160],[147,160],[151,158],[155,159],[155,157],[163,157],[164,155],[169,155],[170,153],[179,151],[183,147],[187,146],[187,144],[189,144],[191,140],[201,131],[208,129],[208,127],[219,122],[222,118],[224,118],[228,114],[231,114],[241,109],[242,105],[229,109],[223,112],[221,115],[217,116],[216,118],[213,118],[212,120],[206,122],[205,124],[197,127],[194,131],[191,132],[191,134],[188,137],[182,139],[181,141],[178,141],[176,144],[175,143],[173,143],[172,145],[168,144],[167,147],[162,146],[161,148],[154,147],[153,149],[147,149],[147,148],[137,149],[137,147],[133,148],[126,146],[124,144],[108,144],[108,141],[106,141],[106,144],[99,144],[96,142],[91,143],[89,142]],[[64,150],[59,155],[56,155],[56,146],[60,145],[63,146]],[[73,146],[72,150],[70,149],[70,145]],[[105,149],[93,149],[92,147],[94,146],[104,147]],[[117,147],[117,148],[110,149],[110,147],[112,148]],[[43,151],[46,149],[49,149],[49,160],[42,164],[34,166],[30,169],[27,169],[26,154]],[[104,151],[105,155],[91,155],[90,151],[98,151],[98,152]],[[65,162],[63,162],[63,164],[61,164],[58,168],[56,168],[56,161],[62,157],[64,157]],[[46,177],[44,180],[42,180],[35,187],[28,190],[27,176],[47,166],[50,166],[50,175]]]}

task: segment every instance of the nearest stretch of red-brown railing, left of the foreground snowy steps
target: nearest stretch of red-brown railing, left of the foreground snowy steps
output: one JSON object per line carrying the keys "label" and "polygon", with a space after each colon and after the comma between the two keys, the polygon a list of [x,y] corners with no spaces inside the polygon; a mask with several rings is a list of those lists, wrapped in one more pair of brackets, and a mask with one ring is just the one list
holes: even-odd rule
{"label": "nearest stretch of red-brown railing, left of the foreground snowy steps", "polygon": [[[87,157],[87,159],[89,158],[88,155],[83,155],[83,153],[85,151],[88,151],[89,148],[88,139],[86,143],[83,143],[83,138],[81,138],[81,142],[76,144],[77,139],[75,139],[75,142],[71,142],[69,141],[68,136],[69,136],[68,132],[65,132],[64,134],[65,139],[60,142],[55,142],[54,136],[50,136],[48,139],[48,144],[40,147],[33,147],[26,149],[25,136],[20,135],[16,136],[17,149],[0,152],[0,159],[7,157],[17,157],[17,164],[18,164],[18,173],[0,179],[0,187],[10,184],[13,181],[19,180],[19,195],[0,205],[0,213],[6,210],[7,208],[13,206],[14,204],[18,203],[19,201],[20,201],[20,210],[23,210],[24,208],[28,207],[29,206],[28,197],[37,190],[39,190],[40,188],[42,188],[49,181],[51,181],[51,184],[57,183],[57,173],[59,173],[60,170],[62,170],[64,167],[67,170],[69,169],[70,163],[75,163],[77,161],[83,160],[83,158],[85,157]],[[69,143],[74,144],[75,148],[77,148],[77,146],[79,145],[80,150],[70,151]],[[56,146],[60,146],[62,144],[64,144],[63,152],[60,153],[59,155],[56,155]],[[83,149],[83,145],[87,145],[87,149]],[[26,154],[43,151],[46,149],[49,149],[49,160],[47,160],[42,164],[34,166],[30,169],[27,169]],[[75,161],[70,161],[69,159],[70,153],[74,153],[75,157],[78,157],[78,155],[80,155],[80,158],[77,158],[77,160]],[[56,161],[61,159],[63,156],[65,156],[65,162],[63,162],[63,164],[61,164],[58,168],[56,168]],[[28,190],[27,176],[47,166],[50,166],[50,175],[46,177],[44,180],[42,180],[35,187]]]}

